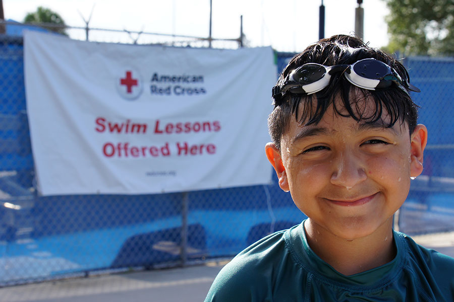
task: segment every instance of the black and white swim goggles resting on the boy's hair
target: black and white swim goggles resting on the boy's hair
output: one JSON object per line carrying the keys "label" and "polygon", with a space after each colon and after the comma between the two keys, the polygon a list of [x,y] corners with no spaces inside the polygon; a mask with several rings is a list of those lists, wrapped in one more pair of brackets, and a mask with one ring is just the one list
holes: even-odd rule
{"label": "black and white swim goggles resting on the boy's hair", "polygon": [[310,95],[319,92],[328,86],[331,75],[335,72],[342,72],[350,83],[368,90],[379,90],[396,83],[405,88],[406,92],[408,90],[420,92],[407,79],[402,80],[394,68],[377,59],[368,58],[351,65],[325,66],[317,63],[301,65],[290,72],[281,85],[273,87],[272,96],[274,100],[278,100],[287,93]]}

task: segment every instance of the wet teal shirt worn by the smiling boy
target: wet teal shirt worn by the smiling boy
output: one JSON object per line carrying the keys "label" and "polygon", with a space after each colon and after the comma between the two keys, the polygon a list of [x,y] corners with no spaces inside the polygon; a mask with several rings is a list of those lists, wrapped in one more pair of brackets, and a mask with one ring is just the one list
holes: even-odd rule
{"label": "wet teal shirt worn by the smiling boy", "polygon": [[454,301],[454,259],[394,232],[396,257],[343,275],[310,249],[303,223],[238,254],[215,278],[209,301]]}

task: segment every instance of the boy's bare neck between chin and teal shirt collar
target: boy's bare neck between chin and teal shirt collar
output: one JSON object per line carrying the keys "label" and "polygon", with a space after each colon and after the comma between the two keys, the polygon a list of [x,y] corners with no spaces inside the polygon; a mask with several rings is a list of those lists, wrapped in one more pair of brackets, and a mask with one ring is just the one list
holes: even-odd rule
{"label": "boy's bare neck between chin and teal shirt collar", "polygon": [[304,229],[314,253],[347,276],[386,264],[396,255],[392,218],[373,234],[353,241],[333,235],[310,218],[305,221]]}

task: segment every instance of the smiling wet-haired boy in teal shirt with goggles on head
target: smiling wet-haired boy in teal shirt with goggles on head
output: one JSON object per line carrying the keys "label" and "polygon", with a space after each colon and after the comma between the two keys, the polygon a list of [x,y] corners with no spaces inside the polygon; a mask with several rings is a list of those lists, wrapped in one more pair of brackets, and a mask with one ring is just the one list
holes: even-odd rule
{"label": "smiling wet-haired boy in teal shirt with goggles on head", "polygon": [[410,91],[400,62],[355,37],[290,61],[265,150],[308,219],[241,252],[205,301],[454,300],[454,259],[392,230],[427,142]]}

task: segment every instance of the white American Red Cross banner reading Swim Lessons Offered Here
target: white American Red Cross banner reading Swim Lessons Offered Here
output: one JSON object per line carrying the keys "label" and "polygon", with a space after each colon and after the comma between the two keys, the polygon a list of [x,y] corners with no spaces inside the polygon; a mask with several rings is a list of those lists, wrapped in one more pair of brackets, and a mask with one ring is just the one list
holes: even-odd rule
{"label": "white American Red Cross banner reading Swim Lessons Offered Here", "polygon": [[120,45],[24,35],[42,195],[266,184],[270,47]]}

